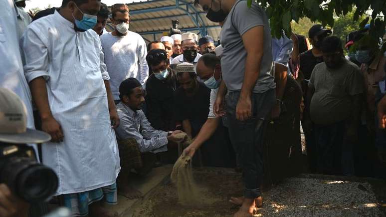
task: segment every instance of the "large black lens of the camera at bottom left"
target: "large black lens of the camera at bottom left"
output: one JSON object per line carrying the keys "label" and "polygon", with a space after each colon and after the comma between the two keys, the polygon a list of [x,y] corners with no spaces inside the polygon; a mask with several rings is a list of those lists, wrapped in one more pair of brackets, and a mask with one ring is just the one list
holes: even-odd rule
{"label": "large black lens of the camera at bottom left", "polygon": [[9,159],[1,172],[1,180],[28,202],[46,201],[58,187],[58,178],[52,169],[22,157]]}

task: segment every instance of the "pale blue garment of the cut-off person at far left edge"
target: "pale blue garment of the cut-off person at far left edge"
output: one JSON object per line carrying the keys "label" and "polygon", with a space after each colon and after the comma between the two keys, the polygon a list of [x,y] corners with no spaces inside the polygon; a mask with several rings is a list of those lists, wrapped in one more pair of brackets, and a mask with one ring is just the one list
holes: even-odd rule
{"label": "pale blue garment of the cut-off person at far left edge", "polygon": [[31,93],[25,80],[17,35],[13,0],[0,0],[0,87],[8,88],[23,101],[27,111],[27,128],[35,129]]}

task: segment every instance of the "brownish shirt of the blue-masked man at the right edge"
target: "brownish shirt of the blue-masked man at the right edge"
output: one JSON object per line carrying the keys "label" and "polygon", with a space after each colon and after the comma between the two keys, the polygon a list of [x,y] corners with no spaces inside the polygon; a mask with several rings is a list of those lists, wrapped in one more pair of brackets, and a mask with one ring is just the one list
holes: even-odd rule
{"label": "brownish shirt of the blue-masked man at the right edge", "polygon": [[378,83],[386,75],[383,67],[385,63],[386,57],[380,54],[370,64],[363,63],[361,65],[361,71],[365,76],[368,108],[372,113],[375,111],[375,96],[378,90]]}

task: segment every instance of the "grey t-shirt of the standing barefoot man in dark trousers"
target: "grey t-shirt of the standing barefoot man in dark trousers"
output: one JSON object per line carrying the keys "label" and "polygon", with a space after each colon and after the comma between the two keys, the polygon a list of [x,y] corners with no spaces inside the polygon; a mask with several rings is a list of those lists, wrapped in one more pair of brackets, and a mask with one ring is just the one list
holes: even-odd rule
{"label": "grey t-shirt of the standing barefoot man in dark trousers", "polygon": [[241,90],[244,81],[247,52],[241,36],[252,27],[261,25],[264,26],[264,54],[261,60],[259,78],[253,92],[263,93],[276,87],[274,78],[270,74],[273,59],[268,17],[255,1],[252,1],[251,8],[248,8],[246,0],[238,0],[226,17],[220,36],[223,47],[222,79],[230,92]]}

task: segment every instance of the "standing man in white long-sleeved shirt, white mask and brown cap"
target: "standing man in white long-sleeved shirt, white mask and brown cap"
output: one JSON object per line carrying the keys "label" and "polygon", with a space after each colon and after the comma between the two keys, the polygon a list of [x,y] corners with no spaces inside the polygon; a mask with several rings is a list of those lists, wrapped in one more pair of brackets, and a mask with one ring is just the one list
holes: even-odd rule
{"label": "standing man in white long-sleeved shirt, white mask and brown cap", "polygon": [[136,78],[142,85],[149,77],[146,62],[147,46],[138,33],[129,31],[130,15],[126,4],[114,4],[111,21],[115,30],[100,36],[107,71],[110,74],[111,92],[119,102],[119,85],[127,78]]}

